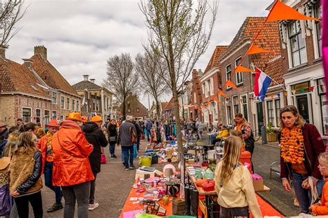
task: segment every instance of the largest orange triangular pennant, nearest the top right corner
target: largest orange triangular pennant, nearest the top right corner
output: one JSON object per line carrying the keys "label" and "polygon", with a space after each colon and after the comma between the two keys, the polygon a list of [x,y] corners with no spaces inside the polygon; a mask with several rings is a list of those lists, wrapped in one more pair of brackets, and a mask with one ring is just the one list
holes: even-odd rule
{"label": "largest orange triangular pennant, nearest the top right corner", "polygon": [[320,21],[319,19],[302,15],[297,10],[286,6],[280,0],[277,0],[268,14],[268,17],[266,17],[266,21],[281,21],[285,19],[313,19],[315,21]]}

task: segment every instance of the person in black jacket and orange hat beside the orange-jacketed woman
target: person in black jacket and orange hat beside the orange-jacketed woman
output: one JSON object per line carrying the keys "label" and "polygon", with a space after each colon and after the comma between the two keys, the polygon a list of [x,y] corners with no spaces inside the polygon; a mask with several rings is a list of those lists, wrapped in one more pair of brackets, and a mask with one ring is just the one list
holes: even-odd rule
{"label": "person in black jacket and orange hat beside the orange-jacketed woman", "polygon": [[[100,172],[102,147],[106,147],[108,144],[106,136],[100,129],[101,125],[101,116],[93,116],[91,122],[84,123],[83,127],[86,140],[93,145],[93,152],[89,155],[89,161],[95,179]],[[99,206],[99,203],[95,202],[95,179],[90,184],[89,210],[94,210]]]}

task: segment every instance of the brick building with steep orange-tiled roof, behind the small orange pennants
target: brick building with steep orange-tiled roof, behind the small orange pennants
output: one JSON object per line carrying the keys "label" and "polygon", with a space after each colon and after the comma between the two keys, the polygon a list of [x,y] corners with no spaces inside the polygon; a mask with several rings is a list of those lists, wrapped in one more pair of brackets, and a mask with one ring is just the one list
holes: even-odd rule
{"label": "brick building with steep orange-tiled roof, behind the small orange pennants", "polygon": [[[246,17],[244,24],[239,28],[228,49],[219,57],[222,83],[231,80],[238,87],[238,89],[232,87],[224,87],[223,89],[228,96],[228,98],[220,98],[221,102],[224,102],[226,115],[224,116],[224,123],[232,125],[235,114],[242,113],[257,134],[259,134],[259,129],[264,124],[264,121],[261,122],[261,120],[264,120],[265,113],[262,102],[253,98],[255,74],[234,73],[234,71],[248,51],[250,44],[253,43],[253,37],[260,29],[262,29],[262,33],[257,38],[255,45],[272,52],[246,55],[242,66],[248,69],[255,69],[255,66],[257,66],[264,71],[268,66],[268,62],[280,55],[278,24],[277,22],[264,23],[265,19],[266,17]],[[280,98],[280,100],[283,99]]]}

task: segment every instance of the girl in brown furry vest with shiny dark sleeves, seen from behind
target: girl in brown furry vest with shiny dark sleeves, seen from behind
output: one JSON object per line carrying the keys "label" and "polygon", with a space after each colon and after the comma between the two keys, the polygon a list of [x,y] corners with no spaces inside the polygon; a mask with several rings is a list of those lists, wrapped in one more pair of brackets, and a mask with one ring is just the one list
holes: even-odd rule
{"label": "girl in brown furry vest with shiny dark sleeves, seen from behind", "polygon": [[42,156],[36,142],[37,136],[32,131],[21,133],[10,161],[10,194],[15,198],[19,217],[28,217],[28,202],[35,217],[43,216]]}

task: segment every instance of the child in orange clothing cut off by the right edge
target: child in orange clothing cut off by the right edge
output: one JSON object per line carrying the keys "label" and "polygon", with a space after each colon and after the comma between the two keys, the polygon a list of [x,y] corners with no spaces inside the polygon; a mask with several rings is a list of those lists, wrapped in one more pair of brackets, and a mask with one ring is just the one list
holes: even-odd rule
{"label": "child in orange clothing cut off by the right edge", "polygon": [[[319,170],[322,176],[328,176],[328,152],[322,152],[319,157]],[[316,215],[328,215],[328,179],[322,188],[321,205],[312,205],[309,209]]]}

